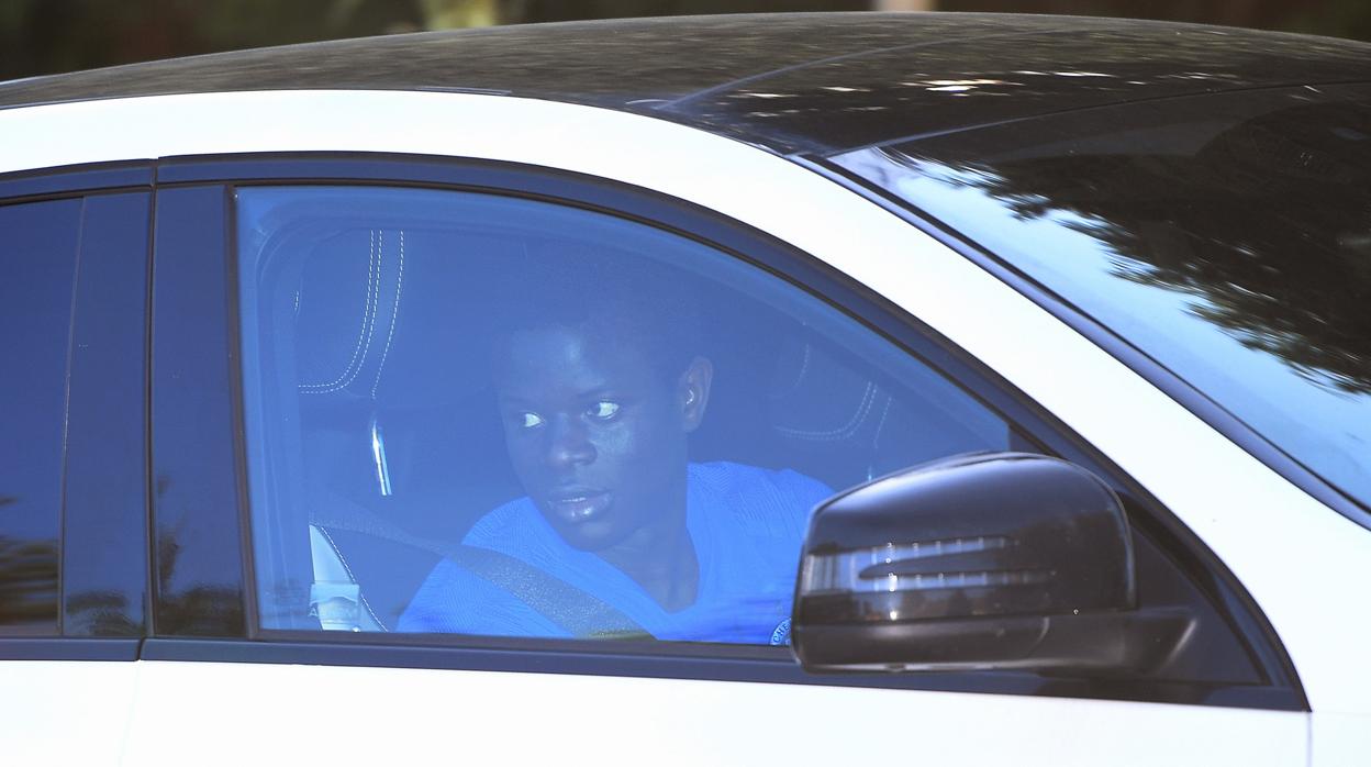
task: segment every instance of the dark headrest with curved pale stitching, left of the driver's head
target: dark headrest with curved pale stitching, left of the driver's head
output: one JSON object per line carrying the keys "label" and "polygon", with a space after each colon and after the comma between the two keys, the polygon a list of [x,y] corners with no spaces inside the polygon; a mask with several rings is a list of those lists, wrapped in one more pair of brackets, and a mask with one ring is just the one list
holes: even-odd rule
{"label": "dark headrest with curved pale stitching, left of the driver's head", "polygon": [[356,228],[318,240],[300,270],[296,380],[304,403],[451,405],[488,386],[492,281],[510,237]]}

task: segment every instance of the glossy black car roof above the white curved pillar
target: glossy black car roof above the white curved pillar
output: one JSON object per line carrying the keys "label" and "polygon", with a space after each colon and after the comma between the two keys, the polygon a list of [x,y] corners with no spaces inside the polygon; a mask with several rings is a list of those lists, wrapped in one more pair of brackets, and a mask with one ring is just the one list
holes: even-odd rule
{"label": "glossy black car roof above the white curved pillar", "polygon": [[400,34],[0,84],[0,108],[263,89],[489,92],[825,156],[1095,106],[1371,80],[1371,44],[998,14],[669,16]]}

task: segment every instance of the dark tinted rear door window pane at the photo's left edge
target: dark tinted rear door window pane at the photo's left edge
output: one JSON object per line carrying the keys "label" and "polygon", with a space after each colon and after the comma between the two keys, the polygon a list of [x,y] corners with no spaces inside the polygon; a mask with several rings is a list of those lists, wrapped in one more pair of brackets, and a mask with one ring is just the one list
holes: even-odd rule
{"label": "dark tinted rear door window pane at the photo's left edge", "polygon": [[67,347],[81,200],[0,207],[0,634],[58,631]]}

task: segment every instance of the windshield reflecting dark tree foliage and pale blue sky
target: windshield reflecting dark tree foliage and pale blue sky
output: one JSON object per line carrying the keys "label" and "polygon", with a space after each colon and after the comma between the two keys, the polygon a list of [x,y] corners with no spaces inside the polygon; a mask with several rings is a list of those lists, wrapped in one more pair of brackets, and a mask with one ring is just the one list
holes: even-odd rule
{"label": "windshield reflecting dark tree foliage and pale blue sky", "polygon": [[836,162],[1371,506],[1371,91],[1073,113]]}

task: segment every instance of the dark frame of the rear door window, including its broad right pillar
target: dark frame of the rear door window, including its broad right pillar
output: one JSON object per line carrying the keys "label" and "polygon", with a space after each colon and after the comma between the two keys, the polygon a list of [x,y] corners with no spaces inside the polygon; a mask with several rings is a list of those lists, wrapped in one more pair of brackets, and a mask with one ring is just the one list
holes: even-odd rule
{"label": "dark frame of the rear door window, including its broad right pillar", "polygon": [[[133,661],[147,634],[145,339],[152,184],[154,163],[148,161],[0,174],[0,204],[82,202],[67,342],[58,634],[0,635],[0,661]],[[111,357],[119,358],[115,369],[106,365]],[[117,414],[104,417],[111,408]],[[111,477],[123,482],[111,488]],[[96,517],[103,523],[100,530],[89,526]],[[99,568],[75,578],[73,561],[96,560]],[[82,597],[70,593],[73,583],[81,583],[88,594],[125,597],[122,609],[104,612],[122,626],[78,624],[74,613]]]}

